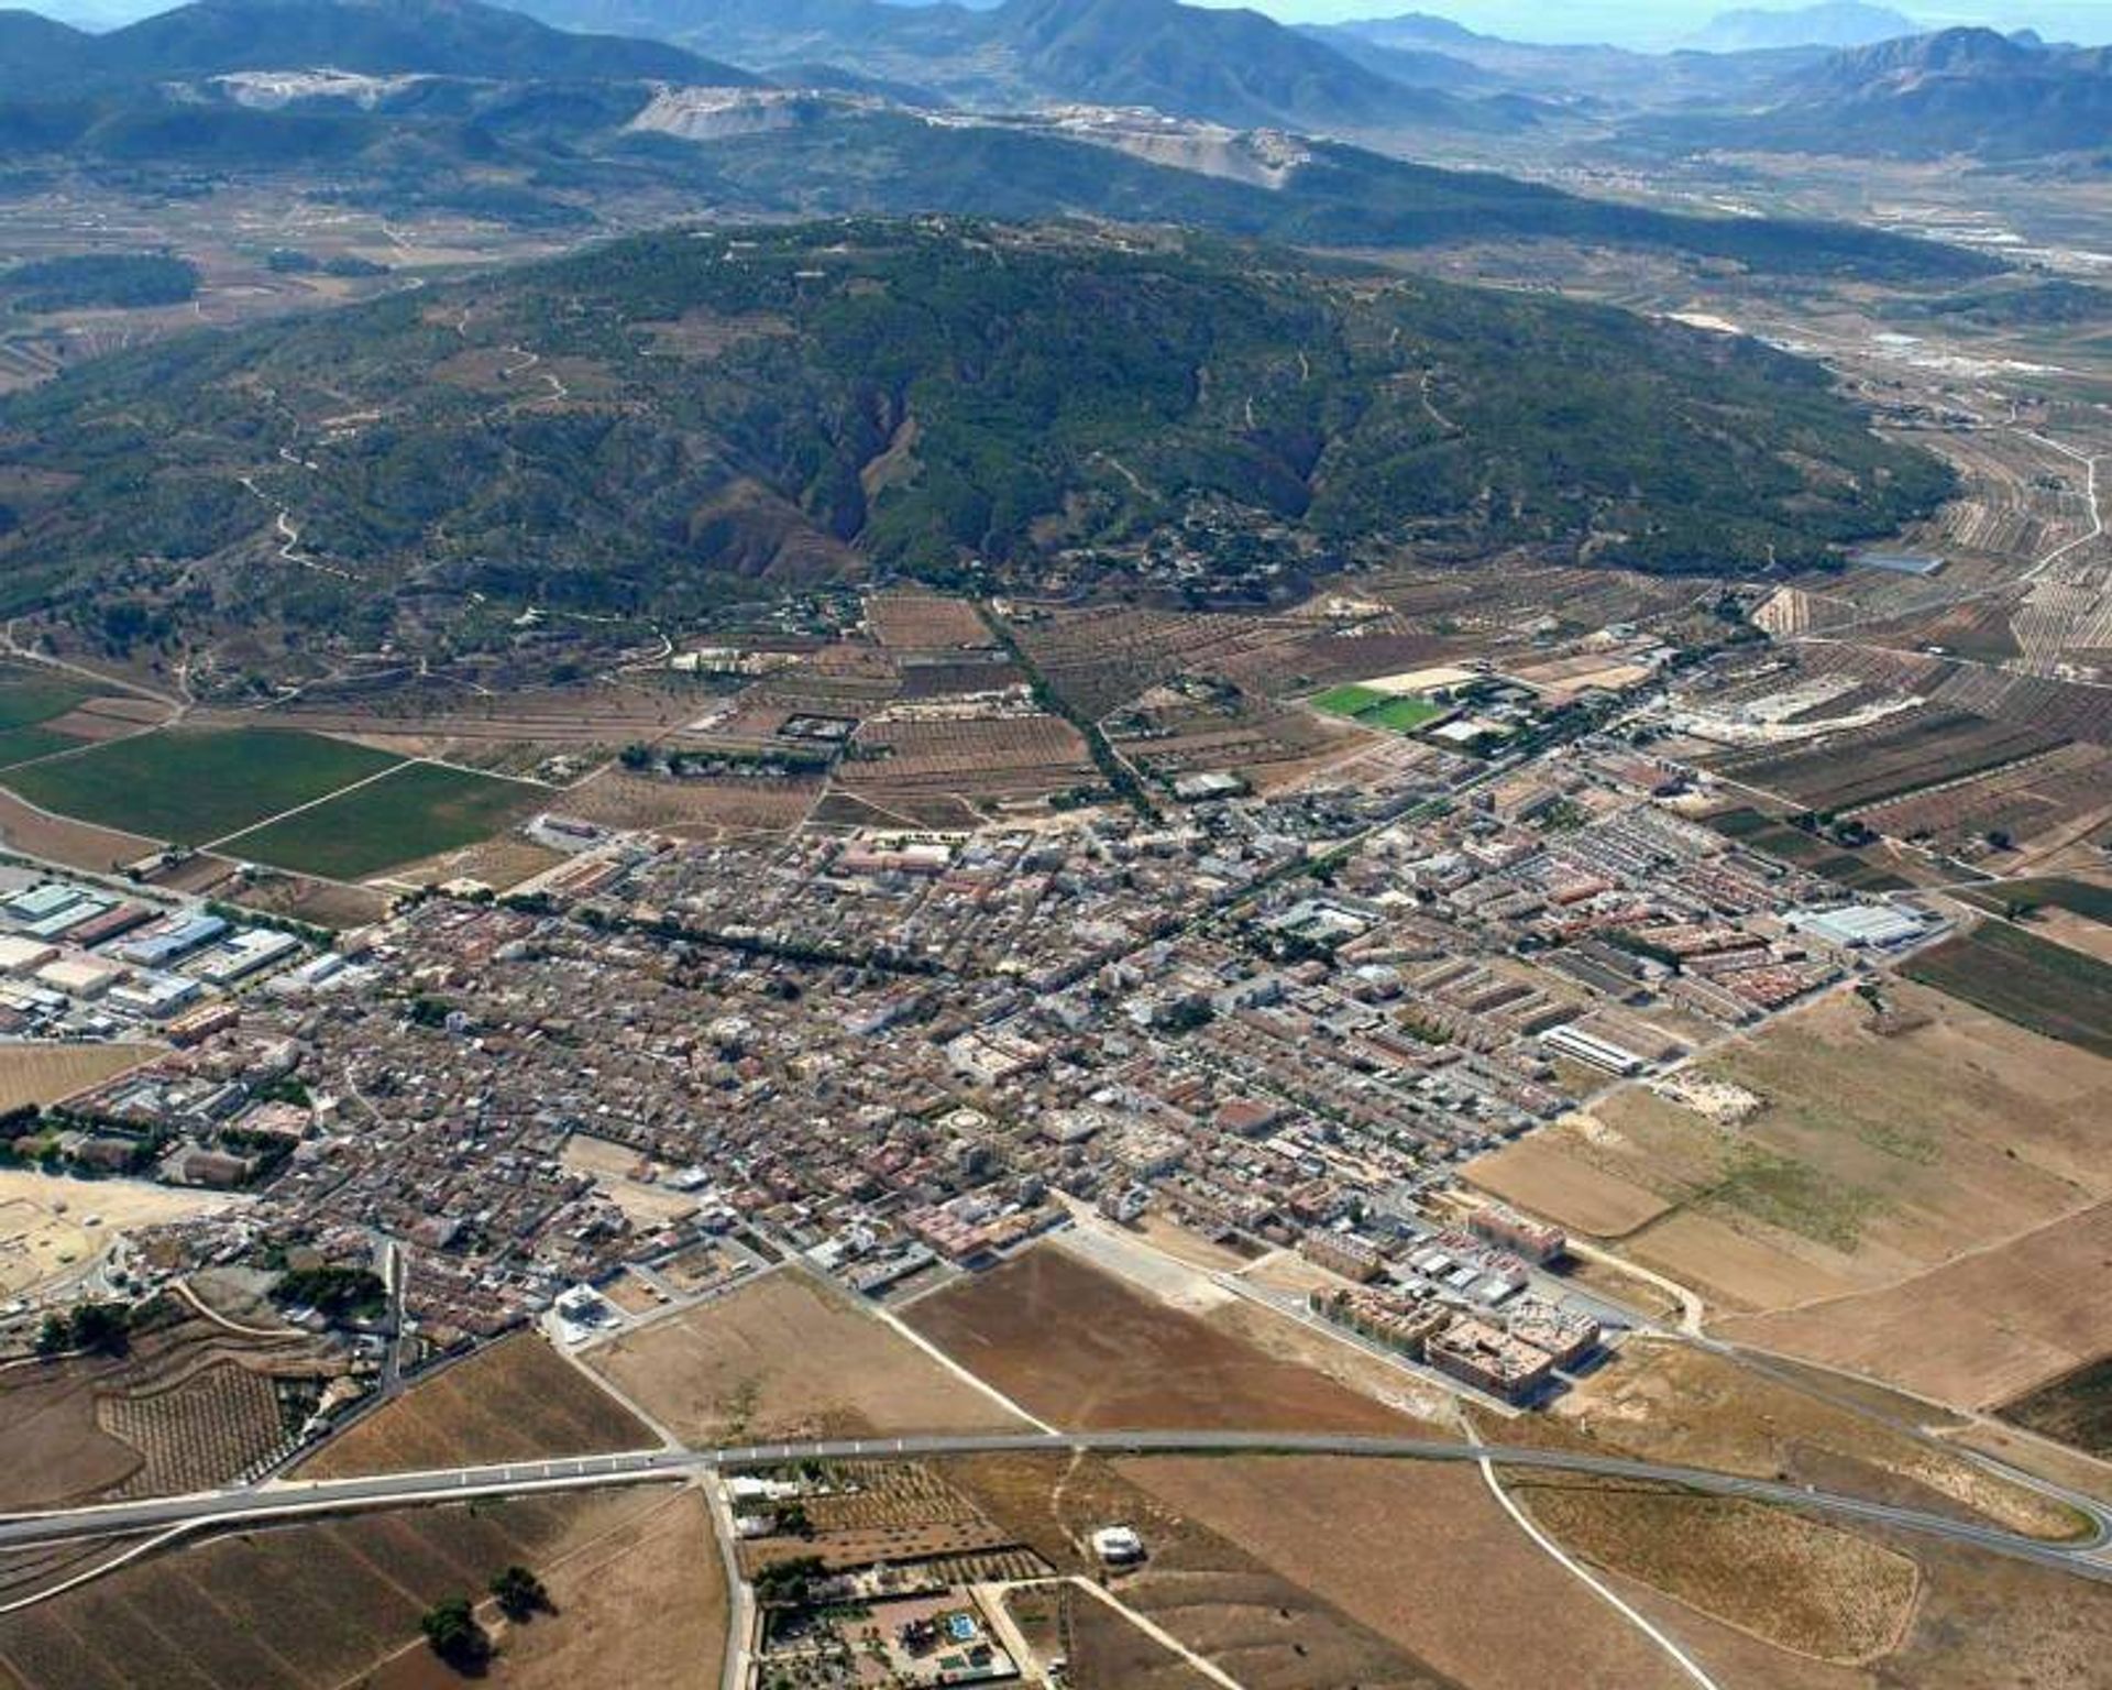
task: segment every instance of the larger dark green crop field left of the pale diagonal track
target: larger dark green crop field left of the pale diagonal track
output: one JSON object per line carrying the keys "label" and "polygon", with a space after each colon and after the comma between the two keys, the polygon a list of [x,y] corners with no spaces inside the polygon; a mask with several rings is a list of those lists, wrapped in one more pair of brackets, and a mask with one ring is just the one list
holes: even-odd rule
{"label": "larger dark green crop field left of the pale diagonal track", "polygon": [[317,733],[171,729],[36,763],[11,775],[8,786],[61,815],[205,845],[397,760]]}

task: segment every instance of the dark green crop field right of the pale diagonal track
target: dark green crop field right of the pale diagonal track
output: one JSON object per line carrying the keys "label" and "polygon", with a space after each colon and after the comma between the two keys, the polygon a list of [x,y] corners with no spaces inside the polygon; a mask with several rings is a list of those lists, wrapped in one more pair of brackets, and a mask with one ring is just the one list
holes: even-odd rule
{"label": "dark green crop field right of the pale diagonal track", "polygon": [[386,780],[226,843],[230,856],[357,881],[490,839],[547,794],[513,780],[412,763]]}

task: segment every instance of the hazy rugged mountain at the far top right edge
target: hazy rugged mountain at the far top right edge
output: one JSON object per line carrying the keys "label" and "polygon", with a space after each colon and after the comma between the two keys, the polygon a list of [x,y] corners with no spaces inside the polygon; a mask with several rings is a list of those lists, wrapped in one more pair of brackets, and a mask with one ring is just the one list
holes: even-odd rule
{"label": "hazy rugged mountain at the far top right edge", "polygon": [[1850,156],[2112,161],[2112,49],[1941,30],[1835,53],[1785,76],[1761,104],[1664,116],[1647,146]]}

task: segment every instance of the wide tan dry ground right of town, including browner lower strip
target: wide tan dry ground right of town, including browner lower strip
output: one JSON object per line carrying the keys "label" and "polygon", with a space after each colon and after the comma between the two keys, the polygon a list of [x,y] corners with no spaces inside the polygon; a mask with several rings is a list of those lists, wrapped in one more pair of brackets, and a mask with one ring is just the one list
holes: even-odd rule
{"label": "wide tan dry ground right of town, including browner lower strip", "polygon": [[[2112,1063],[1935,991],[1886,997],[1873,1016],[1837,993],[1700,1063],[1757,1101],[1745,1120],[1630,1086],[1470,1177],[1694,1287],[1726,1333],[1943,1401],[2112,1348],[2076,1272],[2112,1196]],[[1964,1333],[1909,1344],[1888,1310],[1932,1291]]]}

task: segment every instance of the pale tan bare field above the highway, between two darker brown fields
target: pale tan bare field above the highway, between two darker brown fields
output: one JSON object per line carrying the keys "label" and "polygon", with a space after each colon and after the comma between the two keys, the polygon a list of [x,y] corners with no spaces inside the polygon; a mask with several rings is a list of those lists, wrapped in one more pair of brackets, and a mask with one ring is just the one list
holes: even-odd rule
{"label": "pale tan bare field above the highway, between two darker brown fields", "polygon": [[689,1443],[1018,1428],[984,1392],[798,1270],[623,1333],[585,1360]]}

